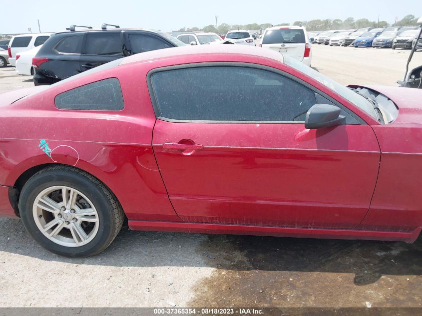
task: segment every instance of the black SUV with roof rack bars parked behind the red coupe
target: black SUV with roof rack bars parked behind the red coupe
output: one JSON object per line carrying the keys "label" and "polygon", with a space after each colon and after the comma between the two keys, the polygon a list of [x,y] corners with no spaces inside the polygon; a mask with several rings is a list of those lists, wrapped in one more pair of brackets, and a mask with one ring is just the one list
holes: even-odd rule
{"label": "black SUV with roof rack bars parked behind the red coupe", "polygon": [[76,25],[71,25],[68,31],[51,35],[32,59],[34,84],[55,83],[132,54],[186,45],[164,32],[107,25],[101,29],[87,26],[84,30],[75,30]]}

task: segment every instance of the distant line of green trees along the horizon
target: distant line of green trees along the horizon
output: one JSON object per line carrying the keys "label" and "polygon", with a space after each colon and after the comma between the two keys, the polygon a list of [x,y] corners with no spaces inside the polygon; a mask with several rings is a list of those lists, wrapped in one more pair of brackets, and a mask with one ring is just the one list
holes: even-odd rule
{"label": "distant line of green trees along the horizon", "polygon": [[[418,17],[415,15],[409,14],[406,15],[399,21],[396,21],[392,25],[390,25],[387,21],[370,21],[367,18],[360,18],[355,20],[353,17],[348,17],[345,20],[341,20],[339,18],[336,19],[315,19],[310,21],[294,21],[293,25],[302,24],[305,26],[308,31],[321,31],[327,29],[358,29],[363,27],[388,27],[388,26],[406,26],[406,25],[417,25]],[[204,32],[214,32],[214,33],[227,33],[229,30],[232,29],[266,29],[270,26],[283,26],[283,25],[291,25],[290,23],[279,23],[279,24],[272,24],[272,23],[252,23],[252,24],[227,24],[221,23],[218,25],[218,30],[216,25],[207,25],[202,28],[199,27],[182,27],[179,29],[180,31],[204,31]]]}

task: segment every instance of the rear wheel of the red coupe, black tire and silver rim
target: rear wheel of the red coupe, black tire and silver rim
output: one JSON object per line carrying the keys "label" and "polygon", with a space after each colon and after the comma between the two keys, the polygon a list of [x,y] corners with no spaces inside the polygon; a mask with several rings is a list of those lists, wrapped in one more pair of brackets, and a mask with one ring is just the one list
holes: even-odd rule
{"label": "rear wheel of the red coupe, black tire and silver rim", "polygon": [[[70,200],[66,207],[63,192]],[[101,182],[68,166],[48,167],[33,175],[21,190],[18,207],[23,225],[35,241],[66,257],[99,254],[117,236],[124,220],[116,197]],[[53,222],[57,224],[47,230]]]}

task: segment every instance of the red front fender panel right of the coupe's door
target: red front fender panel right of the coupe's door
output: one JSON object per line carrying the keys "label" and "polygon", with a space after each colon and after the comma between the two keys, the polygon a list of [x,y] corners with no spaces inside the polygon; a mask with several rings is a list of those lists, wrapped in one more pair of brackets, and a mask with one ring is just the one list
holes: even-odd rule
{"label": "red front fender panel right of the coupe's door", "polygon": [[381,166],[363,230],[412,231],[422,227],[422,132],[403,124],[373,126]]}

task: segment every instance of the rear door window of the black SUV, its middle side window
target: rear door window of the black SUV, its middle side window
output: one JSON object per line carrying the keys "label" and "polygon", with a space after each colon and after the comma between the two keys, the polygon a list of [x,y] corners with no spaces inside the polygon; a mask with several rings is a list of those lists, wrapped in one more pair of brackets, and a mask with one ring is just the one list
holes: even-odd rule
{"label": "rear door window of the black SUV, its middle side window", "polygon": [[86,35],[87,55],[123,56],[120,32],[89,33]]}

